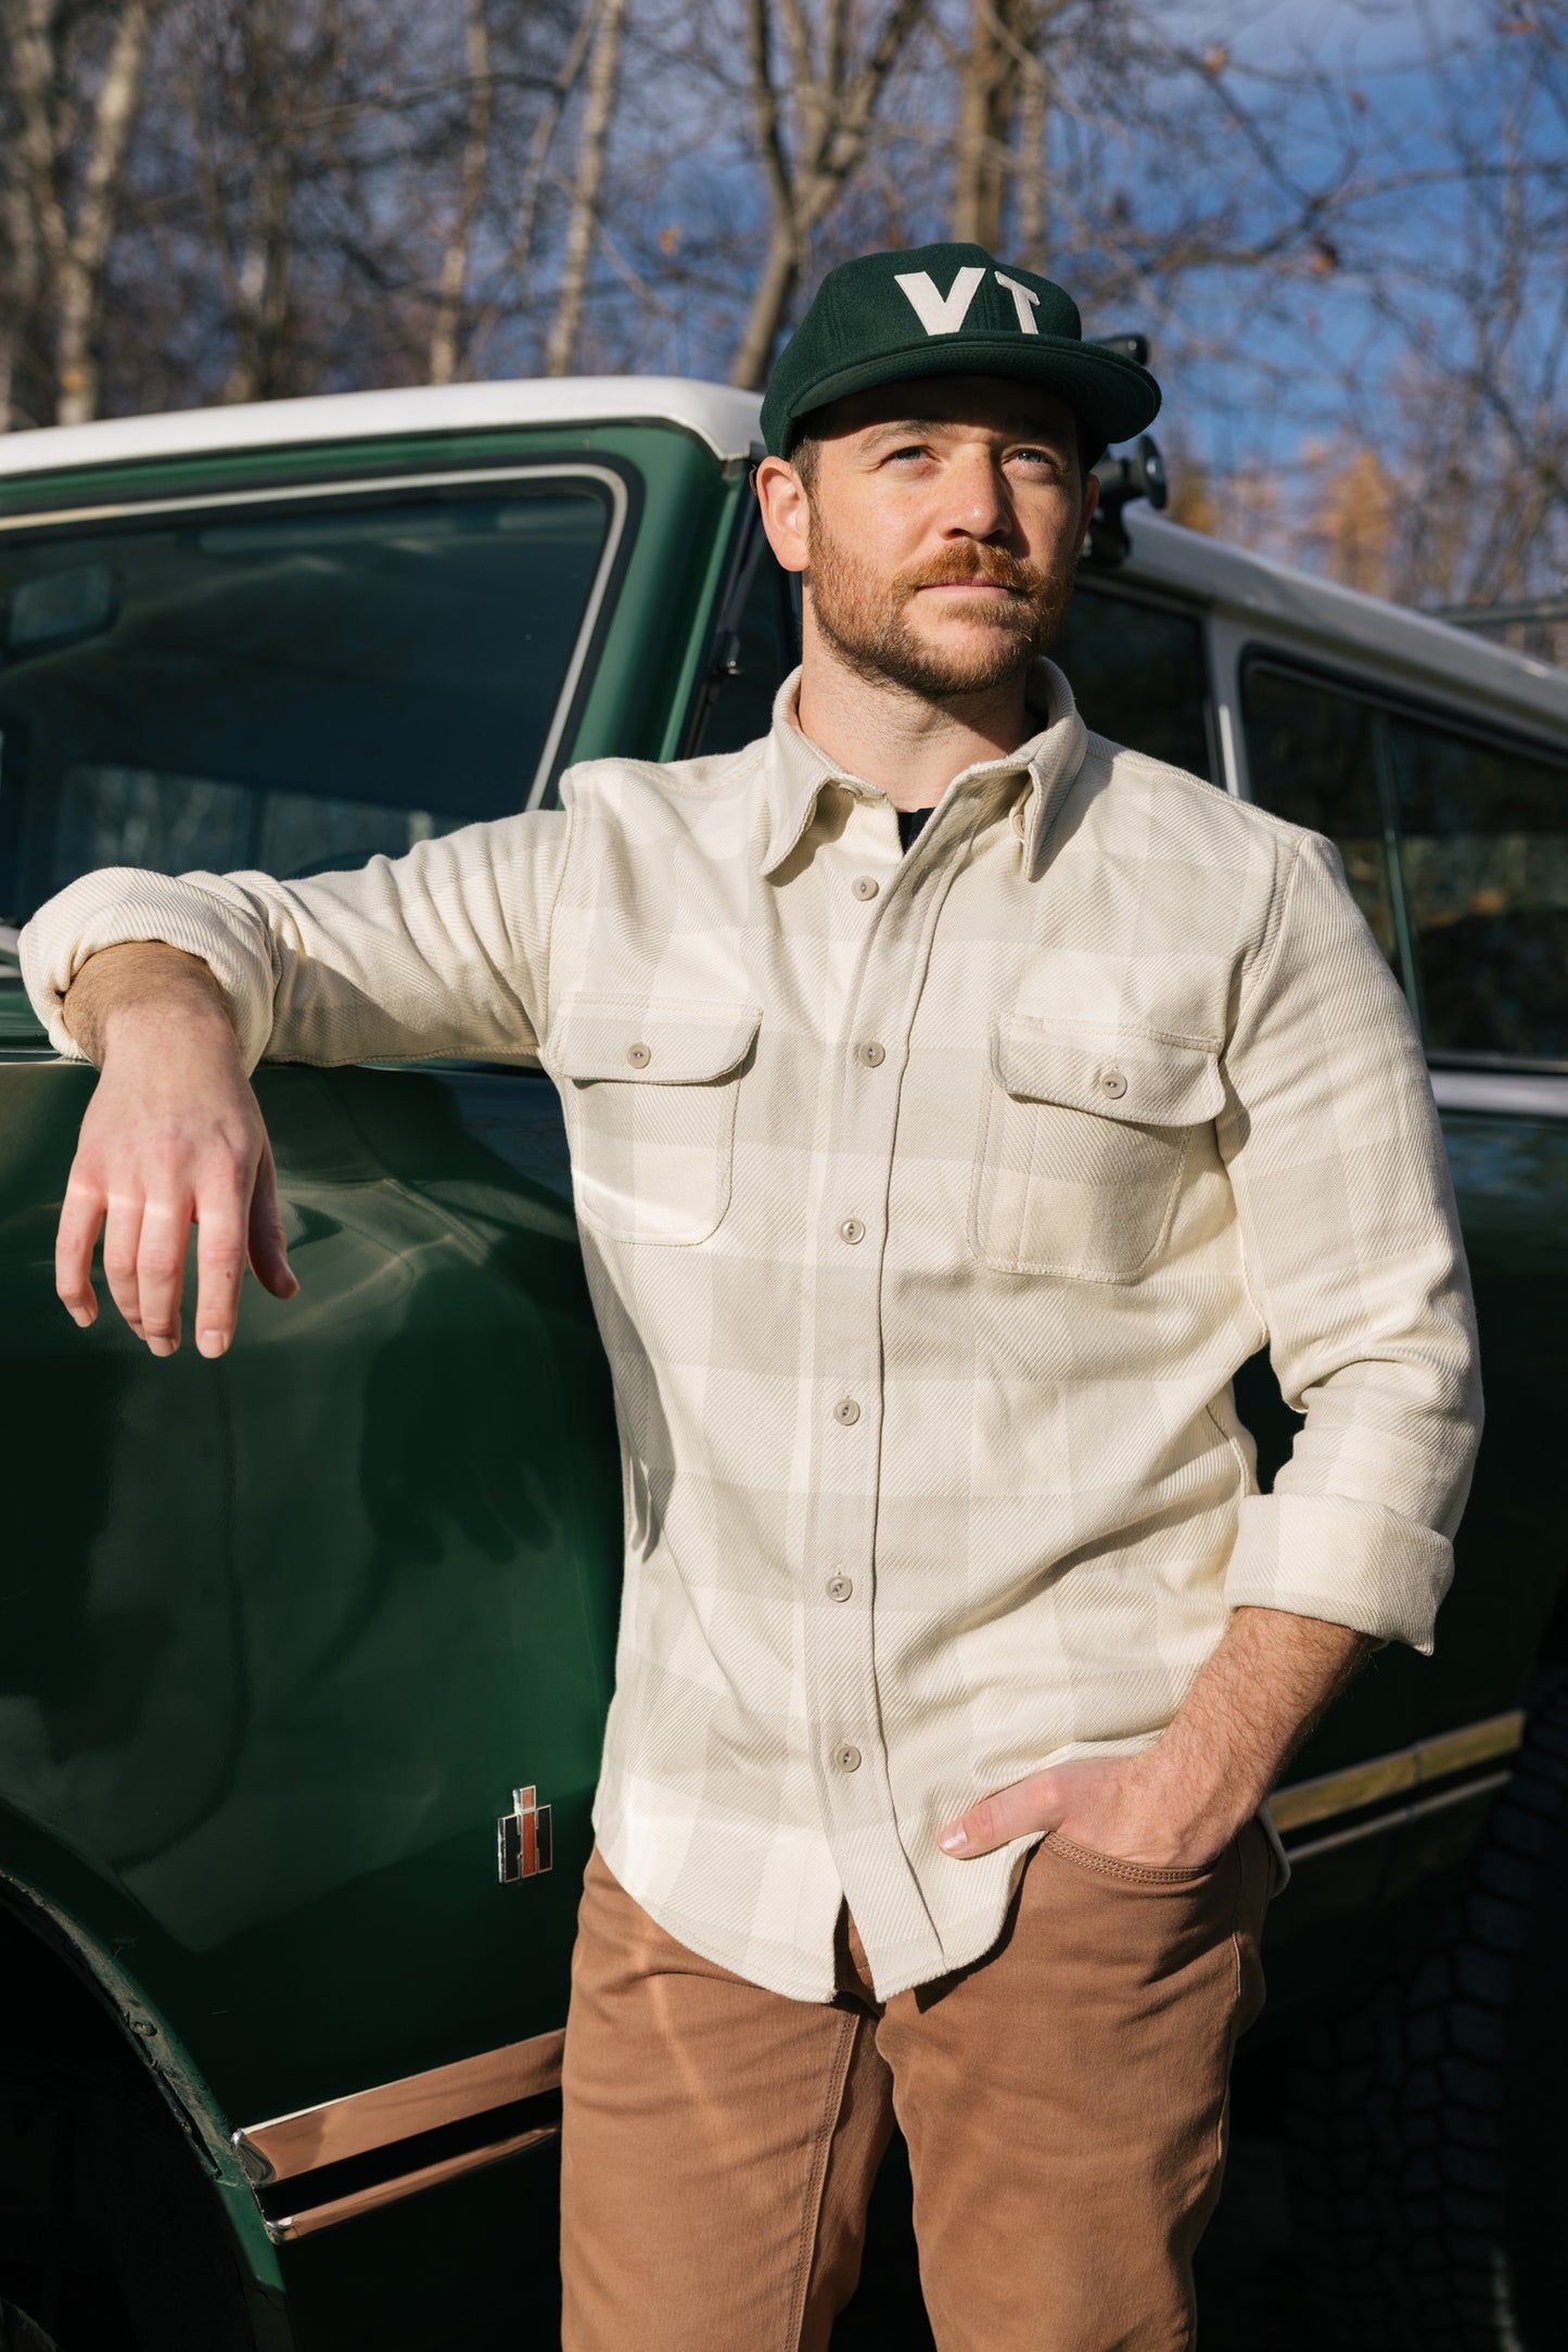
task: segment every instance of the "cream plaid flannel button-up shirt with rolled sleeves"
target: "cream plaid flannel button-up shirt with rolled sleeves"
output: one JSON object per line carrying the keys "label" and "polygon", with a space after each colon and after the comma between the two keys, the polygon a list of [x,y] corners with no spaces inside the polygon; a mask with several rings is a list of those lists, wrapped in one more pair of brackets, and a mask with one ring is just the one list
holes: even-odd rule
{"label": "cream plaid flannel button-up shirt with rolled sleeves", "polygon": [[[1333,849],[1086,734],[907,854],[792,724],[362,873],[73,884],[33,1000],[167,938],[249,1058],[538,1056],[625,1468],[595,1828],[682,1943],[827,1999],[983,1955],[985,1792],[1159,1736],[1244,1602],[1432,1644],[1479,1430],[1418,1040]],[[1046,706],[1048,696],[1048,706]],[[1255,1491],[1234,1369],[1305,1409]],[[520,1399],[527,1411],[527,1399]]]}

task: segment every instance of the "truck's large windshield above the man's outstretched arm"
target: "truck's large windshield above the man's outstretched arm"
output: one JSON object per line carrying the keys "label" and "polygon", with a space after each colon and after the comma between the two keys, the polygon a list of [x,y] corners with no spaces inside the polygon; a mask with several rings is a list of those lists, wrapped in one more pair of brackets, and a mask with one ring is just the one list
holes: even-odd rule
{"label": "truck's large windshield above the man's outstretched arm", "polygon": [[552,468],[0,534],[0,920],[94,866],[306,875],[524,807],[623,508]]}

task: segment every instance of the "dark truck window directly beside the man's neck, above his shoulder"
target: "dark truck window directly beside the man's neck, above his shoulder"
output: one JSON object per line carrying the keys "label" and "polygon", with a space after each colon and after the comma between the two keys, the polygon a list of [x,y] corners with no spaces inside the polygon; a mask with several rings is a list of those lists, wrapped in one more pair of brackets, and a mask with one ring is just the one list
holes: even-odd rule
{"label": "dark truck window directly beside the man's neck, above his shoulder", "polygon": [[1208,668],[1197,614],[1084,581],[1048,652],[1095,734],[1213,783]]}

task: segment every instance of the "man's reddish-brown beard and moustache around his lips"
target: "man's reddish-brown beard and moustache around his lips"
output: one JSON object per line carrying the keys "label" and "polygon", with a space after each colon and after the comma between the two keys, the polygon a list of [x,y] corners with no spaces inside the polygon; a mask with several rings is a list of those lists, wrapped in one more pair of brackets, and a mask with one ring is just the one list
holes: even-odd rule
{"label": "man's reddish-brown beard and moustache around his lips", "polygon": [[[964,647],[926,644],[910,623],[910,604],[922,588],[943,581],[997,581],[1013,593],[976,600],[971,614],[985,642]],[[945,703],[987,694],[1018,680],[1056,637],[1072,600],[1072,572],[1048,574],[1025,564],[990,541],[959,541],[924,564],[893,579],[877,579],[811,517],[811,612],[827,644],[870,684],[905,687],[922,701]]]}

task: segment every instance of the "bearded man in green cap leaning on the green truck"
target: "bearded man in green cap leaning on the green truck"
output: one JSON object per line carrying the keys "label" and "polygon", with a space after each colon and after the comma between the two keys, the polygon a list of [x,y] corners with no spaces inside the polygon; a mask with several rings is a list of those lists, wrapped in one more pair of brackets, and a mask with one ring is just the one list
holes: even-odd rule
{"label": "bearded man in green cap leaning on the green truck", "polygon": [[[943,2352],[1175,2352],[1279,1766],[1432,1644],[1479,1428],[1403,1000],[1326,842],[1041,661],[1159,393],[978,247],[835,270],[757,496],[764,743],[360,875],[94,875],[59,1240],[167,1355],[287,1294],[247,1068],[538,1051],[628,1564],[567,2032],[564,2343],[827,2343],[898,2114]],[[924,823],[922,823],[924,818]],[[1267,1338],[1305,1428],[1255,1494]]]}

